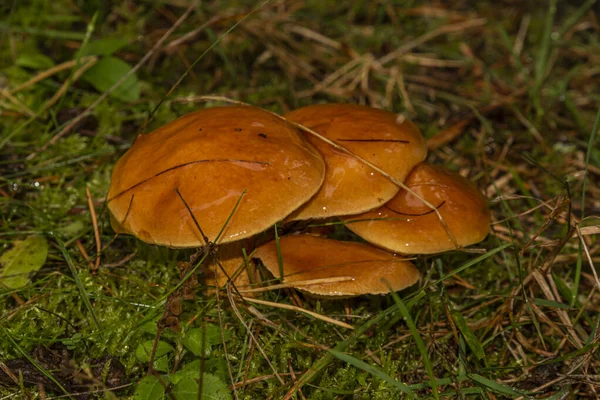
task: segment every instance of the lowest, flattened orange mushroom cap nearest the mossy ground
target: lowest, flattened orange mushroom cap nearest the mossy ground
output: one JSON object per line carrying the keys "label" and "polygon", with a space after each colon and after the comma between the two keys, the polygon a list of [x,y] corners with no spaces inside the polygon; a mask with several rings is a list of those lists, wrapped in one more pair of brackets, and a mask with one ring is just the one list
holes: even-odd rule
{"label": "lowest, flattened orange mushroom cap nearest the mossy ground", "polygon": [[[342,242],[310,235],[282,237],[279,248],[283,259],[283,282],[317,296],[358,296],[362,294],[386,294],[404,289],[419,280],[419,271],[412,263],[376,249],[364,243]],[[254,257],[274,276],[278,277],[279,262],[275,241],[260,246]],[[301,281],[344,278],[311,285]]]}

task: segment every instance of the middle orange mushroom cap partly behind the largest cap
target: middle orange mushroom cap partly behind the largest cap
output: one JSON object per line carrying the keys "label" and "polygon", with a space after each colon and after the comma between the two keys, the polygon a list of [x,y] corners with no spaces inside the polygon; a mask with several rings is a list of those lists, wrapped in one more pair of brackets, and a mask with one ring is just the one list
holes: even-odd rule
{"label": "middle orange mushroom cap partly behind the largest cap", "polygon": [[[418,128],[398,122],[392,112],[354,104],[322,104],[284,115],[344,146],[400,181],[425,159],[427,149]],[[379,207],[398,187],[358,159],[335,149],[313,135],[308,140],[327,163],[323,186],[289,219],[351,215]]]}

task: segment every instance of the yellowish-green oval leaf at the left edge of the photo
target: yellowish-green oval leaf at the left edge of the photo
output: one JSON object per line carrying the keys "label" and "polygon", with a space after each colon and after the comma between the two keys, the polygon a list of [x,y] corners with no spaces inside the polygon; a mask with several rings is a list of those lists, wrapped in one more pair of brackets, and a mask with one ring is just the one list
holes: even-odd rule
{"label": "yellowish-green oval leaf at the left edge of the photo", "polygon": [[42,236],[29,236],[13,242],[13,248],[0,256],[0,284],[18,289],[29,283],[29,273],[42,268],[48,256],[48,242]]}

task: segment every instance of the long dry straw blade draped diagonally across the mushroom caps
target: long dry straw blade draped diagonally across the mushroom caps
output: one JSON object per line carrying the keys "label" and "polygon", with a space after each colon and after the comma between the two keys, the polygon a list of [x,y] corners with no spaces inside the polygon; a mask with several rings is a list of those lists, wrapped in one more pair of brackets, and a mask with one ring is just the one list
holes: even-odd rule
{"label": "long dry straw blade draped diagonally across the mushroom caps", "polygon": [[[227,103],[232,103],[232,104],[237,104],[237,105],[242,105],[242,106],[248,106],[248,107],[254,107],[252,104],[249,103],[245,103],[243,101],[238,101],[238,100],[232,100],[229,99],[227,97],[224,96],[199,96],[197,98],[200,101],[224,101]],[[287,123],[295,126],[296,128],[307,132],[313,136],[315,136],[317,139],[327,143],[330,146],[333,146],[335,149],[349,155],[352,156],[354,158],[356,158],[358,161],[362,162],[363,164],[365,164],[368,167],[373,168],[375,171],[379,172],[381,175],[383,175],[384,177],[386,177],[387,179],[390,180],[390,182],[392,182],[394,185],[398,186],[399,188],[406,190],[408,193],[412,194],[413,196],[415,196],[417,199],[421,200],[423,202],[423,204],[425,204],[427,207],[429,207],[431,210],[433,210],[435,212],[435,214],[437,215],[438,219],[440,220],[440,223],[442,224],[444,230],[446,231],[446,234],[448,235],[448,238],[452,241],[452,244],[454,245],[454,247],[456,249],[460,249],[461,246],[458,245],[458,242],[456,241],[456,239],[454,238],[454,235],[452,234],[452,232],[450,232],[450,228],[448,227],[448,224],[446,223],[446,221],[444,220],[444,218],[442,217],[442,214],[439,212],[439,210],[437,209],[436,206],[434,206],[433,204],[431,204],[430,202],[428,202],[427,200],[425,200],[423,197],[421,197],[419,194],[415,193],[411,188],[409,188],[408,186],[406,186],[403,182],[401,182],[400,180],[394,178],[393,176],[391,176],[390,174],[388,174],[387,172],[385,172],[384,170],[382,170],[381,168],[379,168],[378,166],[374,165],[373,163],[370,163],[369,161],[365,160],[364,158],[354,154],[352,151],[348,150],[347,148],[345,148],[344,146],[334,142],[333,140],[330,140],[326,137],[324,137],[323,135],[321,135],[320,133],[302,125],[299,124],[297,122],[293,122],[293,121],[289,121],[287,120],[285,117],[282,117],[281,115],[274,113],[273,111],[270,110],[264,110],[270,114],[272,114],[273,116],[286,121]]]}

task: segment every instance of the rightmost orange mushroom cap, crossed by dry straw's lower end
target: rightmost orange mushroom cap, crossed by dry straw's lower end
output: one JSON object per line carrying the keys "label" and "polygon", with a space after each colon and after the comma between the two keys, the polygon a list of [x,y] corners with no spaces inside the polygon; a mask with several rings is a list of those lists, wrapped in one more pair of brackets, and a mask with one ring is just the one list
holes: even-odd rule
{"label": "rightmost orange mushroom cap, crossed by dry straw's lower end", "polygon": [[[467,179],[422,163],[404,183],[438,208],[460,247],[480,242],[488,234],[487,201]],[[431,254],[456,248],[434,210],[405,190],[376,210],[342,220],[365,240],[398,253]]]}

